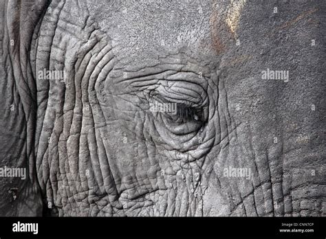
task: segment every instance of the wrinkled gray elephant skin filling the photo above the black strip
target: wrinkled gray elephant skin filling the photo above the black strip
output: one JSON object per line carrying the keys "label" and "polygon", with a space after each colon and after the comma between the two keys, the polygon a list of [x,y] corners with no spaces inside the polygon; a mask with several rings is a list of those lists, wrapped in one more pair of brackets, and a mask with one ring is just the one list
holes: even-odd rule
{"label": "wrinkled gray elephant skin filling the photo above the black strip", "polygon": [[1,216],[325,216],[326,2],[160,2],[1,1]]}

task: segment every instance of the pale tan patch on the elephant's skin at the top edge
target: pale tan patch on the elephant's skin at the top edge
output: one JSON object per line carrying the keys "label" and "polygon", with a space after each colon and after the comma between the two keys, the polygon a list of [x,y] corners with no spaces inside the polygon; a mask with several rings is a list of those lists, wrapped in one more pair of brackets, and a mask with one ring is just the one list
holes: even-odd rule
{"label": "pale tan patch on the elephant's skin at the top edge", "polygon": [[237,28],[241,16],[241,11],[246,5],[247,0],[230,0],[228,10],[226,12],[226,24],[230,28],[232,35],[237,38]]}

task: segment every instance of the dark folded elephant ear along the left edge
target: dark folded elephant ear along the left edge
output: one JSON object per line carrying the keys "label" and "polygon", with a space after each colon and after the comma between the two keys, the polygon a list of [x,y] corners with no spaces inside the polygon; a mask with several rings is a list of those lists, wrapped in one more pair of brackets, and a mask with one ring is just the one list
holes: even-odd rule
{"label": "dark folded elephant ear along the left edge", "polygon": [[34,168],[36,86],[32,36],[49,3],[0,2],[0,216],[40,216]]}

